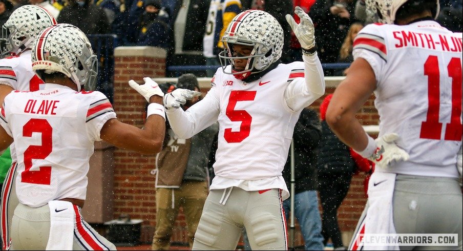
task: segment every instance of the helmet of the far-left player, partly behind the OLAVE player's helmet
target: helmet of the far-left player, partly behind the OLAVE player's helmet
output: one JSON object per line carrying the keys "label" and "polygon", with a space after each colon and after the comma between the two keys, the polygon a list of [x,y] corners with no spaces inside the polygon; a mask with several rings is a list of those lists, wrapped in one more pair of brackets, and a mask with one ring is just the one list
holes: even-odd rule
{"label": "helmet of the far-left player, partly behind the OLAVE player's helmet", "polygon": [[56,25],[56,20],[48,10],[36,5],[23,5],[11,13],[2,27],[3,46],[0,57],[31,48],[35,37],[43,29]]}

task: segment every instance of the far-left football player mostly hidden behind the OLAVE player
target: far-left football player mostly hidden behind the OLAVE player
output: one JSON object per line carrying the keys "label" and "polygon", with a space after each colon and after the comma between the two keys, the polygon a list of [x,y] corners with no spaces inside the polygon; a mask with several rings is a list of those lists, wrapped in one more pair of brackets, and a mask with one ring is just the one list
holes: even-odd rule
{"label": "far-left football player mostly hidden behind the OLAVE player", "polygon": [[[31,47],[41,30],[55,25],[56,20],[43,7],[23,5],[11,13],[2,27],[0,59],[0,104],[12,90],[37,91],[43,88],[44,81],[32,70]],[[9,227],[14,208],[18,204],[14,182],[16,180],[16,154],[14,144],[10,147],[11,168],[2,187],[0,201],[0,232],[3,250],[10,247]]]}

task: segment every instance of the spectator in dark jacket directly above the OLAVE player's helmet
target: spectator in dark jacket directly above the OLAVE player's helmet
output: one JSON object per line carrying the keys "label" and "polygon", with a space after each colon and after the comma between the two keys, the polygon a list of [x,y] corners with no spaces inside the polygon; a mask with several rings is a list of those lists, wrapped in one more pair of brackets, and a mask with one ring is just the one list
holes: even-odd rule
{"label": "spectator in dark jacket directly above the OLAVE player's helmet", "polygon": [[77,26],[87,35],[109,33],[106,13],[92,4],[92,0],[69,0],[56,21]]}

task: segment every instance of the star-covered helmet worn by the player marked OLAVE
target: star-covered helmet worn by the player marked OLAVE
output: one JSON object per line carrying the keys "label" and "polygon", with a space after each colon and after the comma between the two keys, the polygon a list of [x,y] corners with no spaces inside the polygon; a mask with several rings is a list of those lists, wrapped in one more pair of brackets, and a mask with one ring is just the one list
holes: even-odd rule
{"label": "star-covered helmet worn by the player marked OLAVE", "polygon": [[89,39],[79,28],[58,24],[43,30],[32,47],[32,69],[61,72],[74,81],[77,91],[95,90],[97,57]]}

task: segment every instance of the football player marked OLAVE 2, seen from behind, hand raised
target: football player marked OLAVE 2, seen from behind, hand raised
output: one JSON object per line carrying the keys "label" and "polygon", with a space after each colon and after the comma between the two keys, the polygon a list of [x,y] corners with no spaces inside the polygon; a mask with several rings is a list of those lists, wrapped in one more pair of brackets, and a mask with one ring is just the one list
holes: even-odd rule
{"label": "football player marked OLAVE 2, seen from behind, hand raised", "polygon": [[[147,101],[143,129],[120,122],[104,94],[85,91],[97,76],[97,57],[77,27],[59,24],[34,40],[32,69],[45,78],[35,92],[13,91],[0,113],[0,150],[15,143],[16,193],[11,226],[18,250],[115,250],[83,219],[94,141],[143,154],[161,150],[165,134],[163,92],[150,78],[132,88]],[[27,236],[27,238],[25,238]]]}

